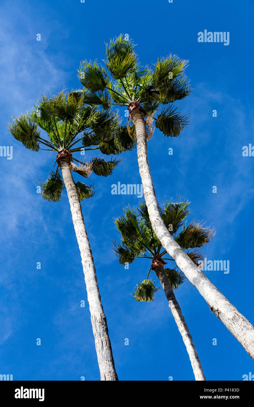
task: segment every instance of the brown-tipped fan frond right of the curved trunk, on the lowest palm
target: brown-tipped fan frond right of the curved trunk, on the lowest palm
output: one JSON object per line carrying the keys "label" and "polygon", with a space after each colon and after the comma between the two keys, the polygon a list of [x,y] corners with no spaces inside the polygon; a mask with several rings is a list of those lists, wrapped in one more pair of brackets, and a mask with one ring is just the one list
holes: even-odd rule
{"label": "brown-tipped fan frond right of the curved trunk, on the lowest palm", "polygon": [[183,226],[183,230],[177,234],[175,241],[183,249],[193,249],[208,243],[214,236],[214,229],[203,228],[202,223],[195,221]]}

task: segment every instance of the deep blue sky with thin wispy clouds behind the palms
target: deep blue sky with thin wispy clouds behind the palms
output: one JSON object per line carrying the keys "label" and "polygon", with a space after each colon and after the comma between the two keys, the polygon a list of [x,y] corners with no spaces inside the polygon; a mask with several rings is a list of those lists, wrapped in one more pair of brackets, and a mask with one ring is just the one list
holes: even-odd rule
{"label": "deep blue sky with thin wispy clouds behind the palms", "polygon": [[[253,2],[137,0],[132,9],[117,0],[14,0],[3,1],[0,11],[0,144],[13,146],[12,160],[0,157],[0,373],[13,374],[13,380],[99,380],[66,190],[57,203],[36,193],[55,153],[25,149],[11,138],[7,122],[30,110],[41,93],[80,88],[80,61],[102,61],[104,42],[120,33],[133,38],[144,65],[170,53],[190,61],[186,74],[194,90],[178,103],[190,125],[174,139],[156,130],[148,142],[157,199],[163,204],[180,195],[191,201],[189,219],[214,225],[205,255],[230,260],[230,272],[205,274],[253,323],[254,158],[242,155],[253,140]],[[230,32],[230,44],[199,43],[198,32],[205,29]],[[130,294],[146,278],[149,261],[137,259],[125,270],[112,250],[112,240],[119,239],[113,218],[140,199],[112,195],[111,185],[141,183],[136,155],[136,150],[122,154],[110,177],[92,175],[96,194],[82,202],[117,374],[120,380],[194,380],[163,291],[152,303],[135,302]],[[92,157],[88,152],[86,158]],[[151,278],[156,280],[155,274]],[[175,295],[206,379],[254,374],[254,361],[188,280]]]}

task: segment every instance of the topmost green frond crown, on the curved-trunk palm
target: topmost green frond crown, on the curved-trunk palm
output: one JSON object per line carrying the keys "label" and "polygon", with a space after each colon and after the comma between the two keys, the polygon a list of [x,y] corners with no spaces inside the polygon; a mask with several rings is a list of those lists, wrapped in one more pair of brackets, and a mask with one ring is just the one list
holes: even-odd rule
{"label": "topmost green frond crown, on the curved-trunk palm", "polygon": [[[131,112],[138,108],[150,119],[165,136],[179,136],[188,118],[170,105],[190,94],[189,81],[184,75],[188,61],[175,55],[158,59],[153,68],[141,67],[134,52],[134,44],[123,35],[106,44],[106,68],[97,62],[83,61],[79,79],[84,85],[84,100],[88,105],[101,105],[108,109],[111,105],[128,106]],[[162,108],[162,105],[169,105]],[[157,117],[154,115],[157,114]],[[130,140],[135,135],[134,125],[127,129]],[[151,127],[151,121],[148,123]],[[148,129],[148,131],[150,128]]]}

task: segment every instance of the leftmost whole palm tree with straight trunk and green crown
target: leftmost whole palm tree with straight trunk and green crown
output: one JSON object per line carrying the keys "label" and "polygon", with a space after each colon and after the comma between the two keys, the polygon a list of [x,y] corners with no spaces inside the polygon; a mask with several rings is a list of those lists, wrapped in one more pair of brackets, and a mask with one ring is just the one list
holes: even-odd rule
{"label": "leftmost whole palm tree with straight trunk and green crown", "polygon": [[[41,135],[40,129],[45,131],[48,138]],[[119,154],[133,147],[131,144],[124,145],[124,131],[119,118],[110,112],[106,104],[101,110],[86,106],[83,96],[75,91],[70,94],[62,91],[49,98],[42,96],[35,110],[12,120],[9,130],[16,140],[32,151],[42,149],[56,153],[57,168],[51,171],[49,178],[41,185],[42,196],[47,201],[60,201],[66,187],[85,275],[101,380],[118,380],[80,204],[83,199],[93,196],[94,188],[84,182],[74,182],[72,171],[84,178],[89,177],[92,171],[106,177],[112,173],[119,160],[106,161],[98,156],[85,163],[72,154],[96,149],[107,155]]]}

